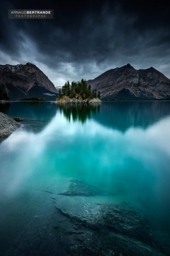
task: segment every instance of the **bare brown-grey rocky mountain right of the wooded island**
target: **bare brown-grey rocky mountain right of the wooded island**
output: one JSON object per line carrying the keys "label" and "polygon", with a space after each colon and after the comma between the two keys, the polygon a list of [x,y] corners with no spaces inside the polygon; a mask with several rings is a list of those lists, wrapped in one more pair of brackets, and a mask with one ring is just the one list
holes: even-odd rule
{"label": "bare brown-grey rocky mountain right of the wooded island", "polygon": [[170,80],[155,68],[135,69],[130,64],[110,69],[93,80],[103,100],[152,100],[170,98]]}

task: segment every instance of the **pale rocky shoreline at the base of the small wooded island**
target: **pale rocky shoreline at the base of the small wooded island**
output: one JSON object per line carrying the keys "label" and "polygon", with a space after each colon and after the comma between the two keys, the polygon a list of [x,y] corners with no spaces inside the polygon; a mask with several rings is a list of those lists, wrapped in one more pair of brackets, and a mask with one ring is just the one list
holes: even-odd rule
{"label": "pale rocky shoreline at the base of the small wooded island", "polygon": [[74,98],[70,98],[67,96],[61,96],[59,98],[56,99],[55,101],[56,103],[100,103],[101,100],[99,98],[86,98],[83,100],[82,97],[74,97]]}

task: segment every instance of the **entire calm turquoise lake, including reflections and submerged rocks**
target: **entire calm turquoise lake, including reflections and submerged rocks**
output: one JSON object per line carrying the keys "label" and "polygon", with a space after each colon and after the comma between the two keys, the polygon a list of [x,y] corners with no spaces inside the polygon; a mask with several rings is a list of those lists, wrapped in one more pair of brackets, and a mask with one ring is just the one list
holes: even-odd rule
{"label": "entire calm turquoise lake, including reflections and submerged rocks", "polygon": [[170,255],[169,101],[0,111],[1,256]]}

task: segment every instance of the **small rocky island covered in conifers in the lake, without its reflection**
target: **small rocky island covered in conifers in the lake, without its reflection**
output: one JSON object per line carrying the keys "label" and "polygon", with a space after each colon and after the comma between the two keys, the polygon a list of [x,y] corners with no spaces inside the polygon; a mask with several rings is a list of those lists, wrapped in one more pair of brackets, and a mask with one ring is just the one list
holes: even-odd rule
{"label": "small rocky island covered in conifers in the lake, without its reflection", "polygon": [[91,91],[91,85],[87,85],[86,80],[82,79],[78,82],[67,81],[59,89],[59,97],[56,103],[98,103],[100,100],[100,92],[96,89]]}

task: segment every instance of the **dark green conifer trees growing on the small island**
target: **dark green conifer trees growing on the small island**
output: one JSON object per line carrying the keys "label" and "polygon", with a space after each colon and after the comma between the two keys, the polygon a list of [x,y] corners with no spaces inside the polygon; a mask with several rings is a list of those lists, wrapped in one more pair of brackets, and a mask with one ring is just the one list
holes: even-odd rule
{"label": "dark green conifer trees growing on the small island", "polygon": [[59,96],[68,96],[74,98],[76,95],[79,95],[84,99],[86,98],[100,98],[100,92],[97,92],[96,89],[91,91],[91,85],[87,85],[86,80],[82,79],[78,82],[67,81],[65,85],[62,86],[62,90],[59,89]]}

